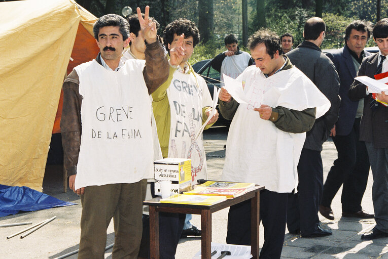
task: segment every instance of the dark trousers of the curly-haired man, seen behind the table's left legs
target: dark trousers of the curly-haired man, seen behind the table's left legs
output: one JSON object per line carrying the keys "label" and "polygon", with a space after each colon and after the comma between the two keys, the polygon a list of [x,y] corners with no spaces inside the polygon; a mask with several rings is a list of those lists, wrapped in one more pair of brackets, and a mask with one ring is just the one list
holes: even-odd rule
{"label": "dark trousers of the curly-haired man, seen behind the table's left legs", "polygon": [[[151,183],[151,194],[155,198],[155,183]],[[159,212],[159,258],[174,259],[181,238],[186,214]],[[143,232],[139,257],[150,257],[150,232]]]}

